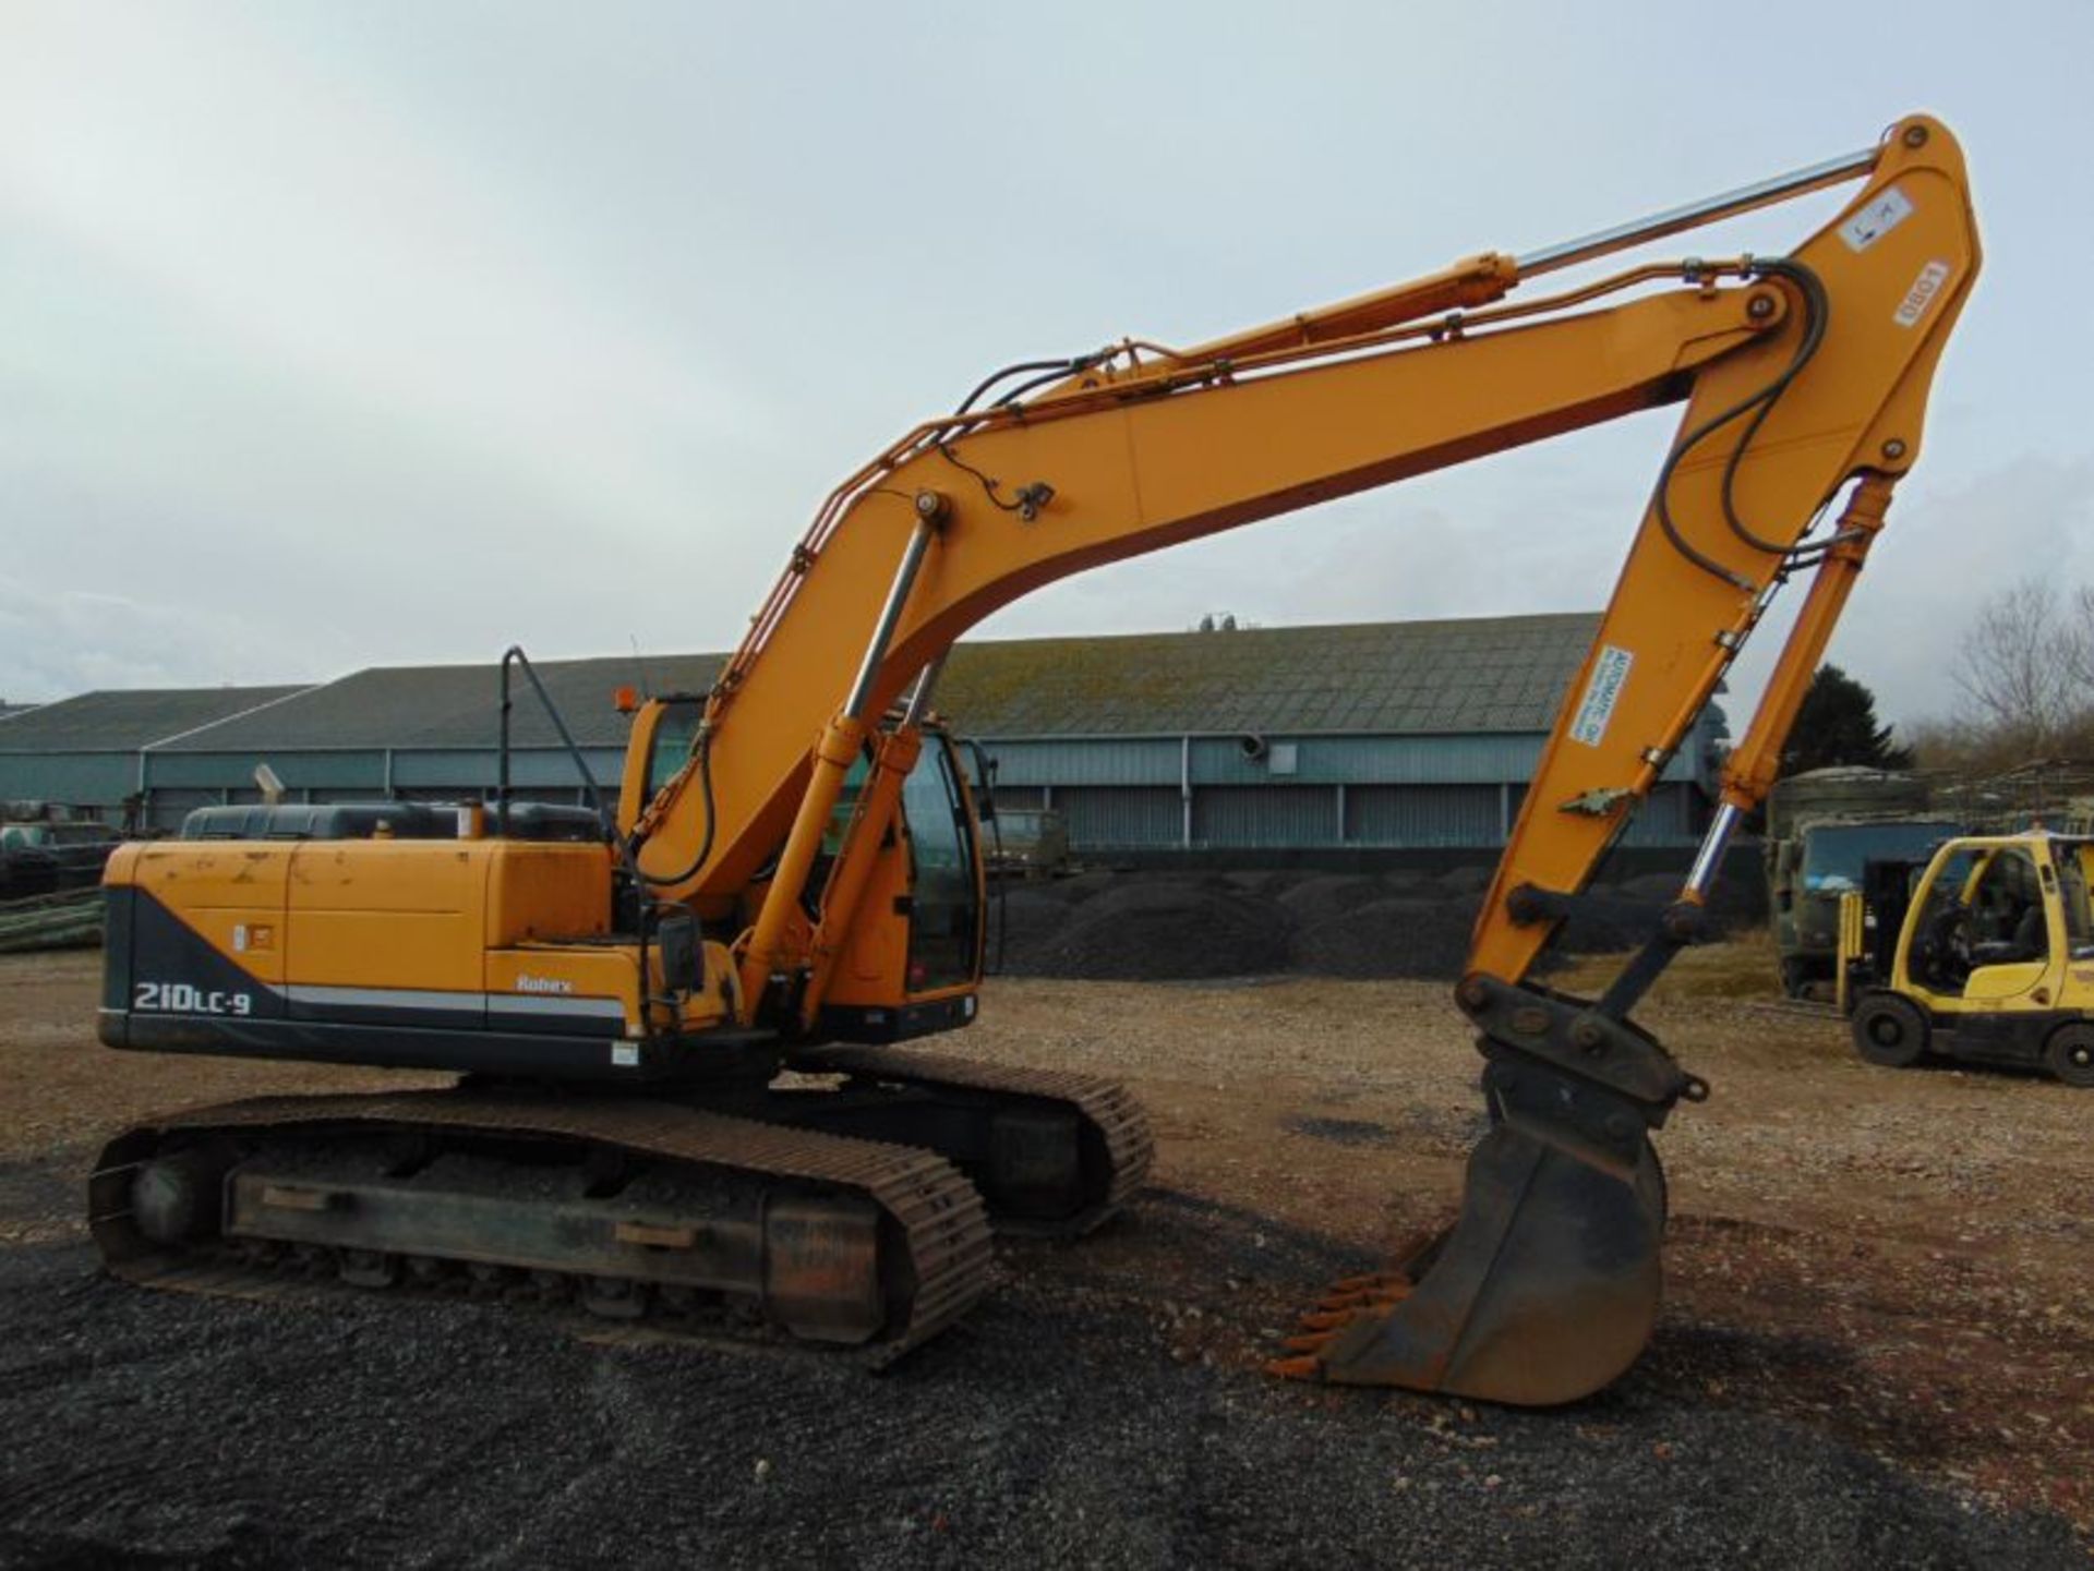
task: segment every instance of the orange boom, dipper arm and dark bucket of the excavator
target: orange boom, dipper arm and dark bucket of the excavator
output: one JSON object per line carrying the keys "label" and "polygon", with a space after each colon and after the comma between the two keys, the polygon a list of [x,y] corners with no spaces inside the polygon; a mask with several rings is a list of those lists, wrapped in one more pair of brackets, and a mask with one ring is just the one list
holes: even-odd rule
{"label": "orange boom, dipper arm and dark bucket of the excavator", "polygon": [[[1855,178],[1841,213],[1786,257],[1646,266],[1506,303],[1539,272]],[[641,868],[664,897],[714,914],[764,879],[739,946],[741,1006],[756,1025],[792,1000],[804,1015],[796,987],[819,964],[787,918],[844,774],[984,615],[1085,567],[1686,402],[1457,989],[1495,1121],[1462,1220],[1426,1255],[1340,1291],[1288,1364],[1522,1404],[1594,1391],[1656,1316],[1665,1201],[1648,1132],[1707,1090],[1627,1010],[1692,937],[1721,841],[1769,782],[1889,489],[1918,456],[1977,266],[1962,155],[1937,121],[1910,117],[1866,155],[1535,257],[1476,257],[1198,349],[1122,343],[1049,368],[1030,397],[970,400],[829,498],[722,671],[691,766],[628,803]],[[1813,533],[1847,483],[1843,517]],[[1529,983],[1799,573],[1815,573],[1805,611],[1665,931],[1598,1002]],[[840,671],[856,671],[846,692]],[[831,891],[884,830],[859,814]]]}

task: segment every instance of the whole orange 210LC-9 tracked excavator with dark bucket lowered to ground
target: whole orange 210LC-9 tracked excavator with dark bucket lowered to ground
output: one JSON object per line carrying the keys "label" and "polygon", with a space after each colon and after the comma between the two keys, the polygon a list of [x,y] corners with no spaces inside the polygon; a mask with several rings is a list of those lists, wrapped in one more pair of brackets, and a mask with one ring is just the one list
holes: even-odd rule
{"label": "whole orange 210LC-9 tracked excavator with dark bucket lowered to ground", "polygon": [[[1514,295],[1836,184],[1845,207],[1786,255]],[[1093,1228],[1152,1151],[1110,1082],[900,1046],[967,1025],[982,975],[978,805],[932,707],[953,642],[1085,567],[1684,404],[1455,989],[1491,1111],[1460,1217],[1338,1284],[1279,1362],[1510,1404],[1606,1385],[1658,1310],[1650,1132],[1707,1096],[1629,1010],[1696,937],[1772,782],[1977,268],[1962,153],[1916,115],[1529,255],[1198,347],[999,370],[836,487],[708,692],[634,701],[616,807],[595,782],[595,807],[515,803],[505,768],[492,805],[218,807],[111,860],[109,1046],[459,1079],[119,1134],[90,1180],[107,1266],[235,1291],[283,1272],[500,1287],[875,1362],[921,1343],[986,1289],[993,1228]],[[1604,996],[1537,985],[1799,575],[1677,904]],[[505,761],[513,674],[544,699],[511,651]]]}

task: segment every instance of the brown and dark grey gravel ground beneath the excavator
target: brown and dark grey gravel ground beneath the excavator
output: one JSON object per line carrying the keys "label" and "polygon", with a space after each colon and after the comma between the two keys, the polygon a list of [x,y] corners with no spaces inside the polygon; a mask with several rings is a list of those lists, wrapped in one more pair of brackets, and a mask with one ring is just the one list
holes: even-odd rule
{"label": "brown and dark grey gravel ground beneath the excavator", "polygon": [[1083,1245],[1005,1245],[957,1333],[867,1376],[465,1299],[105,1280],[96,1132],[375,1077],[103,1052],[92,975],[0,964],[4,1565],[2088,1561],[2094,1102],[1868,1071],[1721,998],[1721,964],[1650,1008],[1717,1084],[1663,1136],[1658,1337],[1550,1414],[1258,1372],[1457,1192],[1474,1061],[1432,985],[990,987],[967,1046],[1124,1073],[1158,1184]]}

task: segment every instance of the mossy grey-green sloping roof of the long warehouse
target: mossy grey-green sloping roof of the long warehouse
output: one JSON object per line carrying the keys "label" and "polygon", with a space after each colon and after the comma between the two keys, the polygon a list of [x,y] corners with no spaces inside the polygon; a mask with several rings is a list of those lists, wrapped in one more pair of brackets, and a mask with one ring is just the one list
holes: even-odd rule
{"label": "mossy grey-green sloping roof of the long warehouse", "polygon": [[[976,736],[1185,732],[1545,732],[1596,613],[1334,628],[1013,638],[959,644],[938,709]],[[704,692],[720,655],[653,655],[653,692]],[[616,688],[630,657],[544,661],[538,674],[584,747],[622,747]],[[848,674],[838,674],[838,697]],[[515,680],[517,747],[557,736]],[[0,720],[0,751],[170,753],[494,747],[496,667],[381,665],[314,688],[90,692]]]}

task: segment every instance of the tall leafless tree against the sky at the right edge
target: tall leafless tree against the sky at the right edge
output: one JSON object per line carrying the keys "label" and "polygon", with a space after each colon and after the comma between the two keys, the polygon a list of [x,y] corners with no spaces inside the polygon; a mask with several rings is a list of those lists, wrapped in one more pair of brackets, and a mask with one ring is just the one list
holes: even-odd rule
{"label": "tall leafless tree against the sky at the right edge", "polygon": [[2094,695],[2094,592],[2069,602],[2025,577],[1979,607],[1950,667],[1964,724],[1987,751],[2012,759],[2056,755],[2086,732]]}

